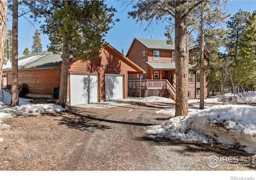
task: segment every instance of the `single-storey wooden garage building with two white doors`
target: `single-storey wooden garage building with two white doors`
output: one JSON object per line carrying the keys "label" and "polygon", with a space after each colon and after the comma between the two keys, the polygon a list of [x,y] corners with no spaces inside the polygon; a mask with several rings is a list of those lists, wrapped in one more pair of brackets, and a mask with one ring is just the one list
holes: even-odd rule
{"label": "single-storey wooden garage building with two white doors", "polygon": [[[53,89],[60,87],[61,64],[61,56],[48,51],[23,56],[18,60],[18,84],[27,84],[26,96],[52,98]],[[110,45],[96,59],[70,59],[68,105],[127,98],[130,73],[145,71]],[[11,64],[3,67],[3,75],[11,84]]]}

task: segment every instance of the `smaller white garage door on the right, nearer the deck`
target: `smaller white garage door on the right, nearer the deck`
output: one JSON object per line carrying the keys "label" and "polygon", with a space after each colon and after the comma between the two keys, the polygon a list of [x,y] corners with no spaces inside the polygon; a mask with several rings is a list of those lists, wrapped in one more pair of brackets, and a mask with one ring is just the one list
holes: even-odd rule
{"label": "smaller white garage door on the right, nearer the deck", "polygon": [[120,74],[105,75],[106,101],[123,98],[123,76]]}

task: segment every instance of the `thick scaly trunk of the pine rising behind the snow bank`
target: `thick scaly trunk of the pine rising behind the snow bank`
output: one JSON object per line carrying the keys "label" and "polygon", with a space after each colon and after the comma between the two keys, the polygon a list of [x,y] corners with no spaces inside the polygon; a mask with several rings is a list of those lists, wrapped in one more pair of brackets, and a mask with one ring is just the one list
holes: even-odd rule
{"label": "thick scaly trunk of the pine rising behind the snow bank", "polygon": [[[177,1],[177,6],[185,1]],[[176,10],[175,13],[175,57],[176,57],[176,110],[175,116],[188,115],[188,29],[186,12]]]}

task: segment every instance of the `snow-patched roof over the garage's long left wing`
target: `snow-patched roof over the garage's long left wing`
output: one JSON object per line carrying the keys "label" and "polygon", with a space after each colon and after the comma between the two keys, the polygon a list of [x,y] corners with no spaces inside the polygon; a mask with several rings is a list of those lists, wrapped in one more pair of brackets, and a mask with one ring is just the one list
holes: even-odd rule
{"label": "snow-patched roof over the garage's long left wing", "polygon": [[[49,51],[31,53],[18,58],[18,69],[55,68],[62,63],[60,54]],[[3,66],[3,70],[11,70],[12,64]]]}

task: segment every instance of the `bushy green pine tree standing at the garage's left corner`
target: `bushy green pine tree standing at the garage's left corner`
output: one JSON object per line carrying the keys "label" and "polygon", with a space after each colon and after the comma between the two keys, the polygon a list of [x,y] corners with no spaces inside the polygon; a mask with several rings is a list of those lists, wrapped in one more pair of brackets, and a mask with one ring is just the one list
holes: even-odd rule
{"label": "bushy green pine tree standing at the garage's left corner", "polygon": [[97,57],[104,47],[104,37],[114,24],[112,17],[116,10],[107,8],[104,1],[51,1],[42,26],[49,35],[48,49],[62,51],[59,104],[66,106],[68,85],[68,63],[70,55],[75,59],[88,60]]}

